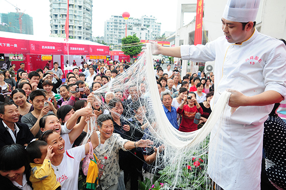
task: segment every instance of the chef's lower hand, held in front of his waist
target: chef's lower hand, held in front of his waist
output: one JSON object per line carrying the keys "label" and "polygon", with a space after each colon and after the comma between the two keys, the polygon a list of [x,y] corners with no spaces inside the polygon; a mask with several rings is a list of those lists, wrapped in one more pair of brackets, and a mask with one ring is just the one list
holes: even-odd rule
{"label": "chef's lower hand, held in front of his waist", "polygon": [[240,106],[247,106],[247,96],[245,96],[242,92],[227,88],[227,92],[231,92],[229,97],[228,105],[233,108],[238,108]]}

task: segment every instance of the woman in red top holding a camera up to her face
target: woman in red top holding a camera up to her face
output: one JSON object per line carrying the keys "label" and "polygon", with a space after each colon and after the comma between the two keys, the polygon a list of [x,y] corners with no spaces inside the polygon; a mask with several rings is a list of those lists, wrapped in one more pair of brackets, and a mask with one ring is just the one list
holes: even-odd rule
{"label": "woman in red top holding a camera up to her face", "polygon": [[[185,105],[185,103],[187,104]],[[198,130],[198,125],[194,123],[195,114],[197,112],[203,113],[203,109],[197,102],[196,94],[189,92],[184,96],[182,104],[177,109],[177,113],[182,113],[182,122],[179,131],[192,132]]]}

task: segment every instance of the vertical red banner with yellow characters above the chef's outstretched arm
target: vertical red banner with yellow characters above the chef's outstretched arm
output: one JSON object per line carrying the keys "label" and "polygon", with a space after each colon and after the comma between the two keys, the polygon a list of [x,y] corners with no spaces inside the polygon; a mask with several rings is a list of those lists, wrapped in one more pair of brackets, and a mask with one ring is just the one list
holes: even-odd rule
{"label": "vertical red banner with yellow characters above the chef's outstretched arm", "polygon": [[202,44],[202,27],[203,27],[203,7],[204,1],[197,1],[196,29],[194,44]]}

